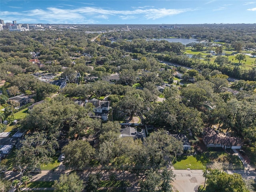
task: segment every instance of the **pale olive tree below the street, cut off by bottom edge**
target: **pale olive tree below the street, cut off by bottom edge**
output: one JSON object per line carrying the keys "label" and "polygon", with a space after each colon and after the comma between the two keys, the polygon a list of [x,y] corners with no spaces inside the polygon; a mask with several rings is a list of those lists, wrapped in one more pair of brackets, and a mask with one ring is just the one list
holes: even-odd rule
{"label": "pale olive tree below the street, cut off by bottom edge", "polygon": [[59,180],[55,180],[54,192],[82,192],[84,190],[83,180],[71,173],[70,175],[61,174]]}

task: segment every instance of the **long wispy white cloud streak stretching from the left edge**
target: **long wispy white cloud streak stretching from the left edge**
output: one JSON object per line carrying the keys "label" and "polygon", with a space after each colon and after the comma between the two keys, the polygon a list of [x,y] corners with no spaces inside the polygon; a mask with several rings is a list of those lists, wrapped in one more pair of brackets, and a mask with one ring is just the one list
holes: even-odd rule
{"label": "long wispy white cloud streak stretching from the left edge", "polygon": [[[137,8],[134,10],[108,10],[99,7],[80,7],[80,8],[58,8],[48,7],[43,9],[32,9],[24,12],[8,12],[0,13],[0,17],[18,18],[18,20],[38,20],[40,22],[48,23],[92,23],[96,22],[94,19],[108,19],[110,16],[117,16],[122,20],[127,19],[158,19],[166,16],[173,16],[184,12],[194,11],[196,9],[166,9],[166,8]],[[22,19],[24,18],[24,19]],[[29,20],[29,19],[28,19]]]}

